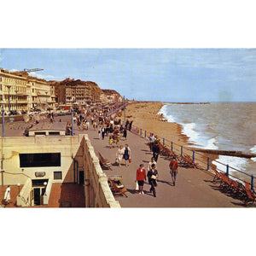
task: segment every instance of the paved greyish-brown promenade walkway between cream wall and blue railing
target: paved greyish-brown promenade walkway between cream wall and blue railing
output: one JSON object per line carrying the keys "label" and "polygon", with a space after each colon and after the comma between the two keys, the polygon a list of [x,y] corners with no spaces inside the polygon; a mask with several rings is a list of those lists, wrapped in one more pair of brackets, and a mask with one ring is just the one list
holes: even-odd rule
{"label": "paved greyish-brown promenade walkway between cream wall and blue railing", "polygon": [[[75,133],[80,131],[75,130]],[[199,169],[179,167],[176,185],[172,185],[172,177],[169,171],[169,160],[160,156],[157,161],[159,172],[156,197],[149,193],[150,185],[144,184],[144,195],[139,195],[135,190],[136,171],[140,164],[144,165],[147,171],[148,162],[152,157],[147,140],[139,135],[128,131],[127,140],[121,139],[131,148],[131,163],[125,167],[125,160],[119,167],[115,164],[118,148],[109,148],[108,137],[99,139],[97,131],[90,129],[85,131],[90,142],[102,156],[112,163],[111,170],[103,170],[107,175],[121,175],[125,189],[128,190],[125,197],[115,196],[121,207],[243,207],[243,202],[225,195],[219,189],[219,183],[213,184],[213,175]]]}

